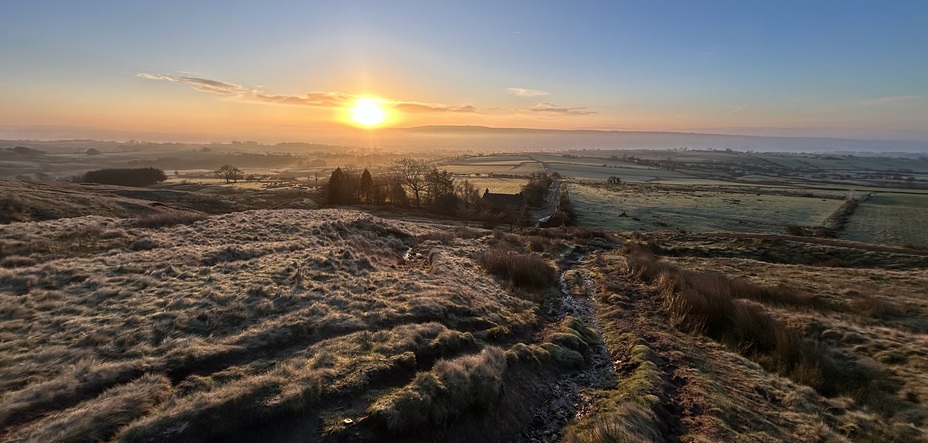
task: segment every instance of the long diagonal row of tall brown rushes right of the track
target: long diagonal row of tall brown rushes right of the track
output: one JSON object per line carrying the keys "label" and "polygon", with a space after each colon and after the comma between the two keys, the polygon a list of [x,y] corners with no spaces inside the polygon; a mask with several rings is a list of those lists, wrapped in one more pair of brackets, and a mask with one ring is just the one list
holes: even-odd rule
{"label": "long diagonal row of tall brown rushes right of the track", "polygon": [[[685,271],[647,253],[629,255],[627,267],[659,290],[664,310],[677,328],[717,340],[768,371],[810,386],[822,395],[851,396],[889,415],[899,407],[895,398],[899,387],[882,369],[833,353],[822,343],[804,338],[772,318],[762,305],[741,300],[769,300],[769,296],[751,295],[763,294],[764,288],[717,274]],[[862,300],[874,303],[873,309],[880,312],[879,300]]]}

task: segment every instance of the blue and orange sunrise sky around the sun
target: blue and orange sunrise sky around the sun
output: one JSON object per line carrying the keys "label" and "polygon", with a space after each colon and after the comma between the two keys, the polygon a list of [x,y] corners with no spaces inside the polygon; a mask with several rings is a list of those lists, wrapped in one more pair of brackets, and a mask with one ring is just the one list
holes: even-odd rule
{"label": "blue and orange sunrise sky around the sun", "polygon": [[[928,1],[9,1],[0,138],[385,127],[928,141]],[[366,131],[376,129],[365,129]]]}

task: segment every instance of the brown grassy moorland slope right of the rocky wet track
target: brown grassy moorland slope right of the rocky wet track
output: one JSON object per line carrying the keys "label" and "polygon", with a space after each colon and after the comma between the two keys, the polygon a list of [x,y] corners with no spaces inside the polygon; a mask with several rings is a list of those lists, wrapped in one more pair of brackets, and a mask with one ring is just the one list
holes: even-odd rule
{"label": "brown grassy moorland slope right of the rocky wet track", "polygon": [[[614,378],[566,440],[928,441],[924,257],[740,240],[637,237],[571,271]],[[796,263],[822,250],[843,261]]]}

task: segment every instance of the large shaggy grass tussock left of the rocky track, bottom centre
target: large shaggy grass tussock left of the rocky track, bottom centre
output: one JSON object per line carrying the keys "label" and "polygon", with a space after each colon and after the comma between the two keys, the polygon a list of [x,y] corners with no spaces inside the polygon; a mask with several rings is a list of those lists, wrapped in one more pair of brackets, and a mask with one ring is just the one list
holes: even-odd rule
{"label": "large shaggy grass tussock left of the rocky track, bottom centre", "polygon": [[426,423],[446,425],[467,410],[487,408],[503,387],[506,357],[496,347],[479,354],[440,360],[429,372],[421,372],[407,386],[377,400],[369,409],[393,433],[403,433]]}

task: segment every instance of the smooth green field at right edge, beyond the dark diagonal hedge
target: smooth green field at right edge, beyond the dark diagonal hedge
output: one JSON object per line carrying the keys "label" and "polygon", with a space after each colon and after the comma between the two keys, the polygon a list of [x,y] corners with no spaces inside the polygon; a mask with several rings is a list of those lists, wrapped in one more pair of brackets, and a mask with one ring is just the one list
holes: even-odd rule
{"label": "smooth green field at right edge, beyond the dark diagonal hedge", "polygon": [[862,202],[842,235],[849,240],[891,245],[928,245],[928,194],[877,192]]}

